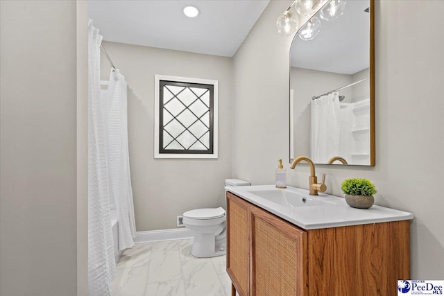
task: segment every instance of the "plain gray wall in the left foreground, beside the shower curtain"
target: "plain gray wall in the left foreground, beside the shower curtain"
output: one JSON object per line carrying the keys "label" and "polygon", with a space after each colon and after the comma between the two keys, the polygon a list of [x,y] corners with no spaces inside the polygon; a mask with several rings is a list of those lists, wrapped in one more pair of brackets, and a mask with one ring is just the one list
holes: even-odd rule
{"label": "plain gray wall in the left foreground, beside the shower curtain", "polygon": [[76,2],[0,10],[0,294],[76,295]]}

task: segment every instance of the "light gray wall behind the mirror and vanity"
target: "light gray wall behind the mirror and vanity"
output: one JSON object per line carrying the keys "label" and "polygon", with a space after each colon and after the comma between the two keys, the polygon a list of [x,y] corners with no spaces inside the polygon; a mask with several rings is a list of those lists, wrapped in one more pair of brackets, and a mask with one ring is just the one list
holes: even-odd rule
{"label": "light gray wall behind the mirror and vanity", "polygon": [[[277,159],[289,155],[292,37],[275,31],[288,4],[271,1],[234,55],[233,175],[253,184],[275,182]],[[412,279],[444,275],[443,10],[443,1],[376,1],[376,166],[316,167],[327,173],[327,193],[342,195],[345,178],[367,177],[377,204],[414,214]],[[289,184],[307,188],[308,175],[298,165]]]}

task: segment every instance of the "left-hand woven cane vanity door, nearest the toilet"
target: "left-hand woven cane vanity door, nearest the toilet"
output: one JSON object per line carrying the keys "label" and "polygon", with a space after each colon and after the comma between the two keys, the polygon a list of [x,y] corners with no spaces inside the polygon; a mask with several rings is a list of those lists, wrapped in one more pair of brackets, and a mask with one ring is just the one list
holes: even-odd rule
{"label": "left-hand woven cane vanity door, nearest the toilet", "polygon": [[227,272],[240,296],[250,295],[250,207],[248,202],[227,193]]}

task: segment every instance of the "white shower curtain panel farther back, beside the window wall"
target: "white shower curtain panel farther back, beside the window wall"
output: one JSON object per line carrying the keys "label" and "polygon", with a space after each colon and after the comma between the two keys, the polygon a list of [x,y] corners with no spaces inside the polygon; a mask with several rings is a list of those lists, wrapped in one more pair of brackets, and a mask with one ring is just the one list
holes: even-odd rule
{"label": "white shower curtain panel farther back, beside the window wall", "polygon": [[127,84],[119,70],[112,69],[108,96],[106,96],[106,121],[110,167],[110,189],[117,207],[119,220],[119,250],[134,246],[136,237],[133,190],[130,180],[128,153]]}

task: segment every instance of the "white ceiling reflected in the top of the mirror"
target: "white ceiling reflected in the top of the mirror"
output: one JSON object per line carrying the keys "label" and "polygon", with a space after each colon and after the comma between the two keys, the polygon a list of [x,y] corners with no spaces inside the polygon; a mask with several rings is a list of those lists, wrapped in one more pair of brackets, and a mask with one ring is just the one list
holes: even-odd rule
{"label": "white ceiling reflected in the top of the mirror", "polygon": [[367,69],[370,54],[368,0],[347,1],[341,17],[321,19],[321,31],[314,40],[298,35],[291,46],[291,66],[352,75]]}

